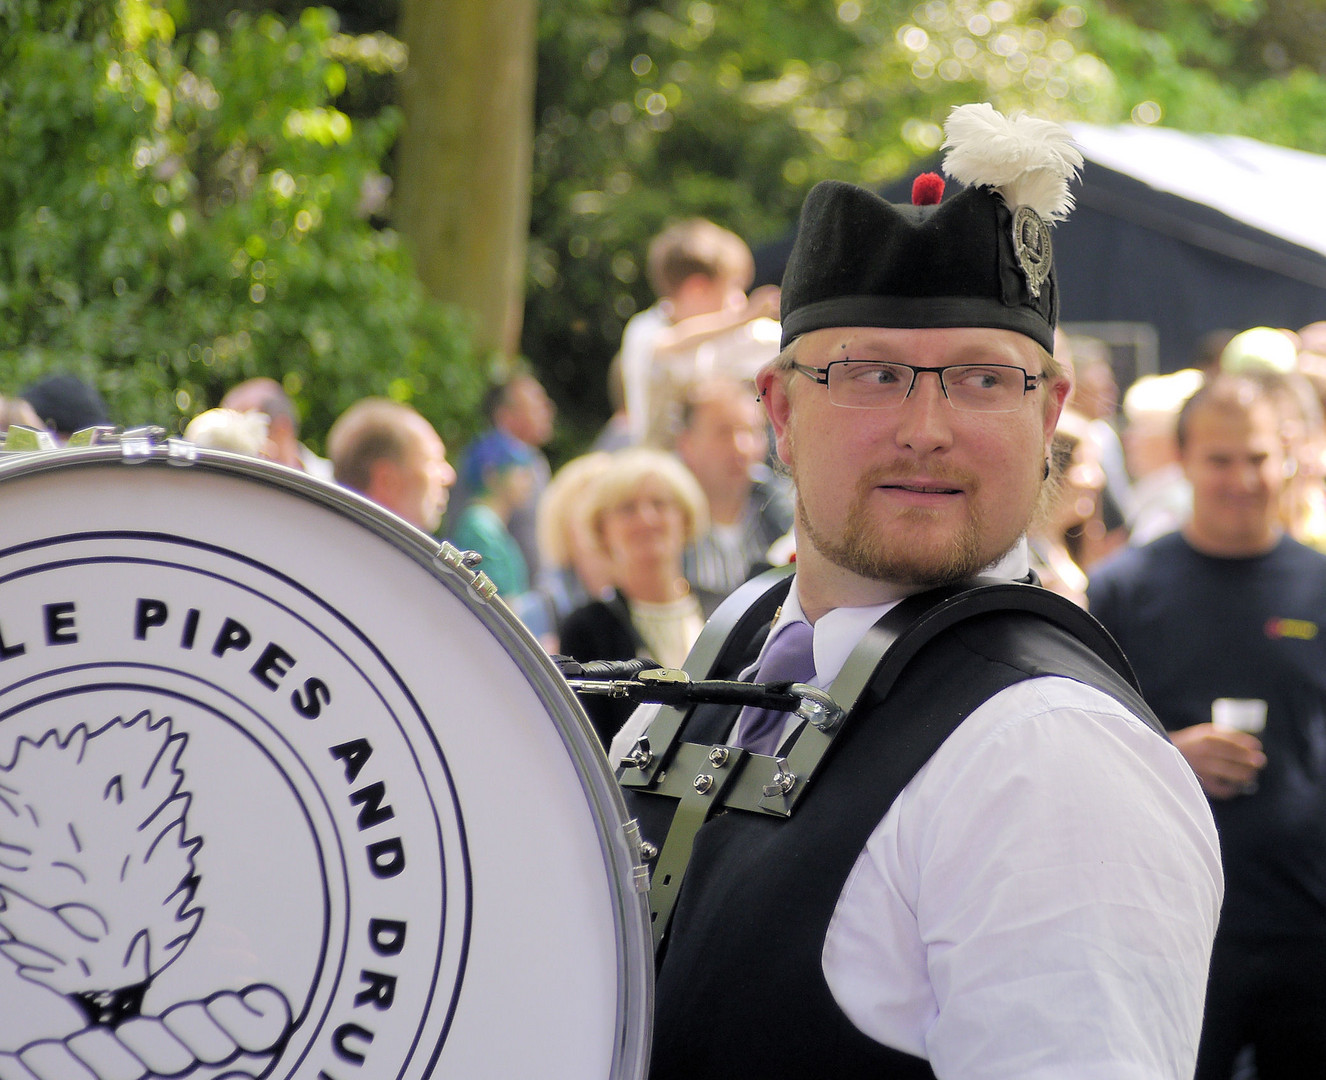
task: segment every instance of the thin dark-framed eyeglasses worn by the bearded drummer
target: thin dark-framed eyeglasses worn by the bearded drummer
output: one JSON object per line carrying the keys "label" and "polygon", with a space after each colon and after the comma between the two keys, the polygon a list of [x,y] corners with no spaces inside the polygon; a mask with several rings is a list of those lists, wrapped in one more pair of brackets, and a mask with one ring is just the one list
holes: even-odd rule
{"label": "thin dark-framed eyeglasses worn by the bearded drummer", "polygon": [[916,386],[916,375],[932,371],[953,409],[963,413],[1012,413],[1045,375],[1028,374],[1010,364],[952,364],[916,368],[911,364],[876,364],[835,360],[823,368],[793,364],[796,370],[829,387],[829,401],[845,409],[896,409]]}

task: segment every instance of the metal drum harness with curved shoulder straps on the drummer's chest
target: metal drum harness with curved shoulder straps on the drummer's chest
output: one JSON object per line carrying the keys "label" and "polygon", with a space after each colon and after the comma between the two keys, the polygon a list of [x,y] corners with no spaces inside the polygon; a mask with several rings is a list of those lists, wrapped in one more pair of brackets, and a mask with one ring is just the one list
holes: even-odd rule
{"label": "metal drum harness with curved shoulder straps on the drummer's chest", "polygon": [[[866,632],[827,693],[806,683],[709,678],[715,671],[733,670],[743,647],[776,617],[790,578],[792,568],[781,567],[736,589],[709,618],[683,669],[640,670],[647,663],[640,661],[578,665],[564,659],[561,663],[578,694],[664,706],[648,734],[636,740],[617,768],[623,789],[676,800],[660,850],[639,837],[636,823],[629,825],[646,862],[658,858],[648,888],[655,950],[671,922],[700,827],[728,809],[790,817],[867,687],[886,695],[908,661],[959,622],[1009,610],[1038,616],[1078,638],[1135,686],[1119,646],[1075,604],[1038,584],[989,577],[916,593],[896,604]],[[598,673],[631,677],[594,678]],[[777,755],[684,742],[682,730],[690,706],[699,703],[786,710],[804,723],[784,740]]]}

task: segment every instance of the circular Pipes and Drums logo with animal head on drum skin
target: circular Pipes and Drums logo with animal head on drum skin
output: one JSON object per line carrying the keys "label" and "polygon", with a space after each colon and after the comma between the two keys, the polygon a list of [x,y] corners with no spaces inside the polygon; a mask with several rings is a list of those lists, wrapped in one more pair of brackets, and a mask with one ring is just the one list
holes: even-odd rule
{"label": "circular Pipes and Drums logo with animal head on drum skin", "polygon": [[469,892],[353,613],[187,539],[0,552],[0,1076],[424,1077]]}

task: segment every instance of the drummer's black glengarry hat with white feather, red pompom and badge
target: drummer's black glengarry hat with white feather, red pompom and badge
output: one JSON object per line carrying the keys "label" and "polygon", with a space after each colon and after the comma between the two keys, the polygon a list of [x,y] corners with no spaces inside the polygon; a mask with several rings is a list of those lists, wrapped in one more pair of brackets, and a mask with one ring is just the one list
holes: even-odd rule
{"label": "drummer's black glengarry hat with white feather, red pompom and badge", "polygon": [[[1058,289],[1048,222],[1073,207],[1082,165],[1067,130],[989,105],[952,110],[944,171],[914,204],[838,180],[806,196],[782,277],[782,345],[827,326],[992,326],[1054,349]],[[920,203],[920,204],[915,204]]]}

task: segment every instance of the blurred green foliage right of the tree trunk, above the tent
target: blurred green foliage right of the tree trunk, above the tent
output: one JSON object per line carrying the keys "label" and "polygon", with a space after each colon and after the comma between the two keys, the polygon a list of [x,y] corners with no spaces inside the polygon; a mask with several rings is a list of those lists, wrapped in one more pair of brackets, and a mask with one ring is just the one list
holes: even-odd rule
{"label": "blurred green foliage right of the tree trunk, above the tent", "polygon": [[668,219],[758,245],[825,176],[907,172],[968,101],[1326,151],[1322,56],[1319,0],[545,4],[525,352],[587,430]]}

